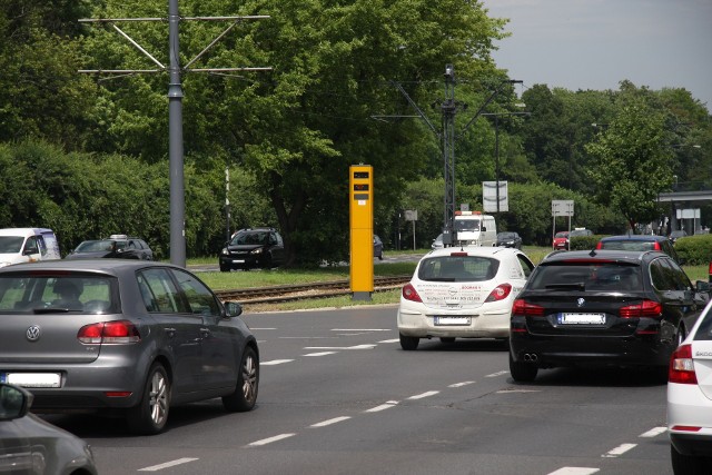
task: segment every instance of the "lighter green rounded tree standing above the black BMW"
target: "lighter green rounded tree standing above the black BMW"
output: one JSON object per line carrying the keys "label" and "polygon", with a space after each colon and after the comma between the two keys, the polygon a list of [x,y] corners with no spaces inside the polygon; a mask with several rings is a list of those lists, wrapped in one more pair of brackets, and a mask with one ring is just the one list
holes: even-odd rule
{"label": "lighter green rounded tree standing above the black BMW", "polygon": [[589,174],[600,202],[621,212],[633,230],[660,216],[657,195],[672,182],[663,113],[640,98],[629,99],[586,150],[596,160]]}

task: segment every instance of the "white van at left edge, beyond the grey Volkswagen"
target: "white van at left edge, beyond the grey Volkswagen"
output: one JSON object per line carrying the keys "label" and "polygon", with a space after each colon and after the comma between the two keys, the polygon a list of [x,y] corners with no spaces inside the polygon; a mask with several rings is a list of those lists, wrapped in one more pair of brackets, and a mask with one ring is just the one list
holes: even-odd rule
{"label": "white van at left edge, beyond the grey Volkswagen", "polygon": [[59,243],[51,229],[0,229],[0,267],[51,259],[61,259]]}

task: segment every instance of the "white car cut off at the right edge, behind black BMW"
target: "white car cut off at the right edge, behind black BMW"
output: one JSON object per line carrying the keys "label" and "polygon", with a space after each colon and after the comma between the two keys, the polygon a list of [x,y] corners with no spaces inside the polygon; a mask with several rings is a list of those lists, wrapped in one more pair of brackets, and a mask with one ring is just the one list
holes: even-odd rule
{"label": "white car cut off at the right edge, behind black BMW", "polygon": [[668,431],[675,475],[712,473],[712,301],[670,359]]}

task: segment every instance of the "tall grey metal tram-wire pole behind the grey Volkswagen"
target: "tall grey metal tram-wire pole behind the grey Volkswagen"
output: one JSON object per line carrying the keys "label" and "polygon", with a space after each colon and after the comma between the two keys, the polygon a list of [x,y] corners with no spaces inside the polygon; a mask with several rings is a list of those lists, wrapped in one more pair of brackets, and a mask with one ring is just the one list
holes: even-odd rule
{"label": "tall grey metal tram-wire pole behind the grey Volkswagen", "polygon": [[182,150],[182,86],[180,83],[178,0],[168,0],[168,156],[170,166],[170,263],[186,267],[186,219]]}

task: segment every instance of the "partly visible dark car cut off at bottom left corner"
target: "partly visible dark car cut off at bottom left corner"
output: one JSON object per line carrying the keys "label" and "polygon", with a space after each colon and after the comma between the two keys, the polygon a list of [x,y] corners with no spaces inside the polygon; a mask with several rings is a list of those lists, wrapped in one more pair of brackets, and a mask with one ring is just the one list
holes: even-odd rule
{"label": "partly visible dark car cut off at bottom left corner", "polygon": [[0,473],[96,475],[89,444],[31,414],[32,394],[0,384]]}

